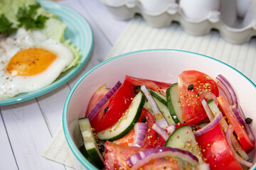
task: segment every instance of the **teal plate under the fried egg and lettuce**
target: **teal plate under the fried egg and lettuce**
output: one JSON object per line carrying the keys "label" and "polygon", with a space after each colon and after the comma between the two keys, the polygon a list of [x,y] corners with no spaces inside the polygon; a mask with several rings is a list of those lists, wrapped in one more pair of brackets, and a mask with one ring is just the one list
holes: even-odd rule
{"label": "teal plate under the fried egg and lettuce", "polygon": [[58,79],[43,89],[32,91],[26,94],[19,94],[14,98],[1,99],[0,106],[27,101],[31,98],[36,98],[48,93],[49,91],[52,91],[77,74],[90,58],[93,47],[93,34],[90,24],[85,20],[85,18],[67,6],[57,4],[52,1],[40,1],[40,4],[43,6],[43,8],[46,8],[46,10],[55,13],[58,17],[60,17],[63,23],[67,25],[65,30],[65,39],[70,39],[71,43],[75,44],[75,46],[80,49],[80,64],[71,69],[68,69],[68,71],[64,72],[63,74],[60,74]]}

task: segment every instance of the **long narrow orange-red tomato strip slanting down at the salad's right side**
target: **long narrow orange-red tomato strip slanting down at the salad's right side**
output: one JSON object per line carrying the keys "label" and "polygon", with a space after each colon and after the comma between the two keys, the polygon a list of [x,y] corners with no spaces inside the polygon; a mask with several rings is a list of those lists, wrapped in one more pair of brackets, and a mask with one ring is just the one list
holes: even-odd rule
{"label": "long narrow orange-red tomato strip slanting down at the salad's right side", "polygon": [[230,109],[228,101],[223,96],[219,96],[218,103],[221,111],[223,111],[230,124],[233,125],[235,134],[238,136],[238,141],[240,142],[242,149],[247,151],[254,147],[255,144],[252,142],[252,140],[250,140],[245,128],[242,128],[242,125],[235,118],[235,115]]}

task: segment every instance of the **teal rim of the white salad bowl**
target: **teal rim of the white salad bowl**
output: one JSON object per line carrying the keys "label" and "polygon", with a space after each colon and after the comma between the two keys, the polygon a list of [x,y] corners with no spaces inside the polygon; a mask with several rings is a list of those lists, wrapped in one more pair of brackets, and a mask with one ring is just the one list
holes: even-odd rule
{"label": "teal rim of the white salad bowl", "polygon": [[[90,69],[88,72],[86,72],[84,75],[82,75],[82,77],[80,79],[78,79],[78,81],[75,83],[75,85],[73,86],[73,88],[70,90],[70,93],[68,94],[68,97],[65,101],[65,105],[63,108],[63,130],[64,130],[64,135],[65,135],[65,139],[68,142],[68,147],[70,148],[70,150],[73,152],[73,154],[75,155],[76,159],[78,159],[78,161],[80,162],[80,164],[82,164],[83,166],[85,166],[85,168],[87,169],[97,169],[95,166],[93,166],[87,159],[85,159],[85,157],[82,156],[81,152],[79,151],[78,147],[75,146],[75,143],[73,142],[69,130],[68,130],[68,122],[67,122],[67,111],[68,111],[68,105],[69,105],[69,101],[70,98],[72,97],[75,89],[78,87],[78,85],[81,83],[81,81],[83,79],[85,79],[85,77],[87,77],[88,74],[90,74],[90,72],[93,72],[95,69],[97,69],[98,67],[104,65],[107,62],[110,62],[112,60],[117,60],[120,57],[124,57],[127,55],[132,55],[134,53],[141,53],[141,52],[151,52],[151,51],[174,51],[174,52],[185,52],[185,53],[189,53],[189,54],[193,54],[193,55],[199,55],[201,57],[206,57],[209,58],[211,60],[215,60],[217,62],[220,62],[228,67],[230,67],[231,69],[234,69],[235,72],[238,72],[239,74],[242,75],[242,77],[245,77],[245,79],[247,79],[247,81],[250,82],[250,84],[252,84],[252,86],[255,87],[256,89],[256,85],[249,79],[247,78],[244,74],[242,74],[242,72],[238,71],[238,69],[235,69],[234,67],[230,66],[229,64],[226,64],[225,62],[221,62],[220,60],[217,60],[213,57],[209,57],[207,55],[202,55],[196,52],[189,52],[189,51],[185,51],[185,50],[171,50],[171,49],[150,49],[150,50],[138,50],[138,51],[134,51],[134,52],[127,52],[125,54],[122,55],[117,55],[116,57],[112,57],[108,60],[105,60],[104,62],[101,62],[100,64],[97,64],[95,67],[93,67],[92,69]],[[256,170],[256,166],[252,167],[252,169],[250,170]]]}

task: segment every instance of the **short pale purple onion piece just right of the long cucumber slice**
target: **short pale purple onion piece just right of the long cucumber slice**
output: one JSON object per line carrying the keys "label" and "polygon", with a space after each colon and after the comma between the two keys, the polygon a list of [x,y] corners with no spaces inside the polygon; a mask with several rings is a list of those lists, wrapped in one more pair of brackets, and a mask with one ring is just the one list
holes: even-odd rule
{"label": "short pale purple onion piece just right of the long cucumber slice", "polygon": [[133,147],[141,147],[146,136],[147,124],[146,123],[136,123],[134,125],[134,142]]}

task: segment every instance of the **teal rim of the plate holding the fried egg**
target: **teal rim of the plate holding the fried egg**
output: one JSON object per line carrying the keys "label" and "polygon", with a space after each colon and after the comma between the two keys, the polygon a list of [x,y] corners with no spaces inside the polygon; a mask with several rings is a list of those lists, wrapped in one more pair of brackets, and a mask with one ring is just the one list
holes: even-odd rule
{"label": "teal rim of the plate holding the fried egg", "polygon": [[[81,49],[81,47],[79,47],[80,55],[81,55],[80,59],[82,59],[82,60],[80,60],[80,64],[67,70],[66,72],[68,72],[68,74],[65,74],[64,77],[61,77],[60,79],[57,78],[57,81],[56,80],[53,81],[52,84],[49,84],[48,86],[43,87],[42,89],[38,89],[36,91],[31,91],[31,92],[24,93],[24,94],[18,94],[18,96],[14,96],[13,98],[0,99],[0,106],[7,106],[7,105],[15,104],[15,103],[20,103],[22,101],[28,101],[28,100],[36,98],[38,96],[43,96],[44,94],[47,94],[48,92],[53,91],[54,89],[57,89],[61,85],[65,84],[72,77],[74,77],[75,74],[77,74],[80,71],[80,69],[82,69],[82,67],[87,63],[87,61],[89,60],[89,58],[92,54],[92,49],[94,47],[94,35],[92,32],[90,23],[85,19],[85,17],[83,17],[80,13],[78,13],[78,11],[75,11],[72,8],[65,6],[63,4],[58,4],[53,1],[38,1],[38,2],[41,4],[41,6],[43,8],[46,8],[50,12],[55,13],[54,10],[57,10],[57,9],[58,9],[58,11],[65,10],[65,12],[72,13],[73,15],[78,17],[80,23],[82,23],[83,26],[85,26],[85,28],[87,28],[87,31],[83,31],[83,33],[85,33],[85,35],[87,35],[86,43],[88,44],[88,47],[82,48],[82,49]],[[68,27],[68,24],[67,23],[65,23],[65,24]],[[78,45],[75,44],[75,46],[77,47]]]}

